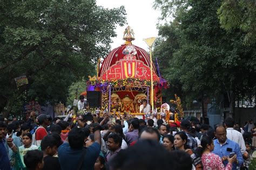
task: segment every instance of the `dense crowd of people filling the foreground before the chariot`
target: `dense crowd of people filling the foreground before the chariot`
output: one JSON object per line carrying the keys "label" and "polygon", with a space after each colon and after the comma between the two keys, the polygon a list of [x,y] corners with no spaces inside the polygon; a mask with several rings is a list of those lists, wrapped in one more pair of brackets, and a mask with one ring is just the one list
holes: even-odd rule
{"label": "dense crowd of people filling the foreground before the chariot", "polygon": [[256,169],[255,131],[229,117],[211,127],[87,112],[74,123],[32,111],[0,118],[0,169]]}

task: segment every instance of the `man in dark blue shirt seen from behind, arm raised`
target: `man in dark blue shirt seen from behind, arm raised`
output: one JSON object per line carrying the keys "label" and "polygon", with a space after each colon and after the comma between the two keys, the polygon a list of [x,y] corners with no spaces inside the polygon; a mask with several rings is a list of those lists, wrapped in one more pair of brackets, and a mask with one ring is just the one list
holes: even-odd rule
{"label": "man in dark blue shirt seen from behind, arm raised", "polygon": [[[83,158],[80,169],[94,169],[94,164],[100,152],[100,131],[94,128],[95,142],[88,148]],[[72,128],[68,135],[68,142],[64,142],[58,148],[59,164],[62,170],[76,170],[80,164],[84,152],[84,141],[89,136],[90,130],[82,128]]]}

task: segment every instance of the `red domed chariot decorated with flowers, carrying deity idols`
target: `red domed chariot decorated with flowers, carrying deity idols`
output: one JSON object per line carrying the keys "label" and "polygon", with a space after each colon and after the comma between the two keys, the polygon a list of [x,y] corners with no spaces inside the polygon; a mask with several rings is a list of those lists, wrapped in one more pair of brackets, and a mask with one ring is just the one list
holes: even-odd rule
{"label": "red domed chariot decorated with flowers, carrying deity idols", "polygon": [[130,26],[125,29],[123,39],[125,43],[113,49],[103,63],[98,64],[97,76],[87,81],[87,92],[100,91],[102,111],[130,113],[142,118],[145,114],[140,113],[139,108],[146,99],[151,107],[153,104],[152,113],[169,120],[170,106],[165,104],[165,110],[161,111],[161,90],[167,87],[167,81],[161,78],[157,63],[151,66],[149,53],[132,44],[134,33]]}

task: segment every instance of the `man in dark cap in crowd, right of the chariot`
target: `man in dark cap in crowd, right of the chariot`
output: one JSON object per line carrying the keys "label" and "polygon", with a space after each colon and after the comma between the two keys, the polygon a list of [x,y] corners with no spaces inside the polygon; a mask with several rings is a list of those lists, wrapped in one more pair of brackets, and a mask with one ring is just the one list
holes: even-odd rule
{"label": "man in dark cap in crowd, right of the chariot", "polygon": [[191,123],[188,120],[181,120],[180,128],[184,131],[187,135],[187,148],[193,149],[196,151],[198,144],[197,140],[193,138],[190,134],[188,134],[188,130],[191,128]]}

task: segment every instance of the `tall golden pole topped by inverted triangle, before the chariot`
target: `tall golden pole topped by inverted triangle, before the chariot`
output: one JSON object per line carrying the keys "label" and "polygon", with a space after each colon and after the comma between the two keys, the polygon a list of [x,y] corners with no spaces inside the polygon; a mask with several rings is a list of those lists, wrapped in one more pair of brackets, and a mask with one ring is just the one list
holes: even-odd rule
{"label": "tall golden pole topped by inverted triangle, before the chariot", "polygon": [[154,111],[154,88],[153,88],[153,63],[152,63],[152,45],[154,41],[156,40],[156,37],[150,37],[143,39],[146,44],[150,47],[150,72],[151,72],[151,106],[152,106],[152,111]]}

